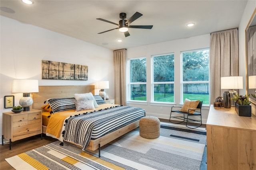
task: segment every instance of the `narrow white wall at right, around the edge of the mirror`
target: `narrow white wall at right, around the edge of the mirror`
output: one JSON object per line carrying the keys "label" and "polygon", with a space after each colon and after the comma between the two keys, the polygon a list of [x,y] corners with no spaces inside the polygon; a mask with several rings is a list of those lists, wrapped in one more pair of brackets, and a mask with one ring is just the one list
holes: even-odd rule
{"label": "narrow white wall at right, around the edge of the mirror", "polygon": [[[239,90],[240,95],[246,94],[246,48],[245,48],[245,29],[248,25],[250,18],[256,8],[256,0],[248,0],[242,20],[240,21],[238,28],[239,35],[239,76],[243,76],[244,84],[243,89]],[[252,105],[252,113],[256,115],[256,106]]]}

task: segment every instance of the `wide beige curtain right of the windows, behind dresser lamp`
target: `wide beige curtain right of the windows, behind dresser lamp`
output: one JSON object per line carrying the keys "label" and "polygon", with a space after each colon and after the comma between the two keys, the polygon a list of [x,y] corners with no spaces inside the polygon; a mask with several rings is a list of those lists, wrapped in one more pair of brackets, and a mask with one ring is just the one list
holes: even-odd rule
{"label": "wide beige curtain right of the windows, behind dresser lamp", "polygon": [[[238,29],[211,33],[210,39],[210,104],[224,90],[220,77],[238,76]],[[231,90],[231,89],[230,89]]]}

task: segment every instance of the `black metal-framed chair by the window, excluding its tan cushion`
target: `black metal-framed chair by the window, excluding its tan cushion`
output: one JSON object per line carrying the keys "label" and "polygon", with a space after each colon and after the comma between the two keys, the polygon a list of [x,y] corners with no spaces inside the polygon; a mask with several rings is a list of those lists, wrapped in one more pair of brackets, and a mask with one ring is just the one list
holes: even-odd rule
{"label": "black metal-framed chair by the window, excluding its tan cushion", "polygon": [[[183,120],[183,121],[178,122],[178,123],[175,123],[175,124],[179,124],[179,123],[182,123],[182,122],[186,121],[186,127],[188,127],[188,128],[195,129],[195,128],[197,128],[197,127],[200,127],[200,126],[202,125],[202,115],[201,115],[202,104],[203,104],[203,101],[200,101],[199,104],[198,104],[198,106],[197,106],[196,108],[190,108],[190,109],[188,109],[188,113],[187,113],[187,112],[182,112],[182,111],[172,110],[172,109],[171,109],[171,114],[170,114],[170,120],[169,120],[169,121],[170,121],[171,123],[175,123],[175,122],[171,121],[171,118],[173,117],[173,118],[176,118],[176,119]],[[174,108],[174,107],[181,107],[181,106],[172,106],[172,108]],[[191,111],[191,110],[192,110],[192,111],[195,111],[195,112],[194,112],[194,113],[189,113],[189,111]],[[183,116],[177,116],[177,115],[172,116],[172,113],[173,113],[173,112],[183,114]],[[185,117],[185,115],[187,115],[187,116]],[[190,117],[191,117],[191,116],[200,116],[200,120],[199,120],[199,119],[191,119],[191,118],[188,118],[189,116],[190,116]],[[189,127],[189,126],[188,126],[188,122],[190,122],[190,121],[200,122],[200,125],[197,126],[197,127]]]}

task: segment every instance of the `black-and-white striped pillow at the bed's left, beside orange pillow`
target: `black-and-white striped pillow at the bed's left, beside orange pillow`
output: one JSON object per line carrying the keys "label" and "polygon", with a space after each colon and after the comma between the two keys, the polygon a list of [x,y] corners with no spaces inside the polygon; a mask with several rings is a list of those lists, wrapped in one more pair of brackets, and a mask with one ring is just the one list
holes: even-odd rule
{"label": "black-and-white striped pillow at the bed's left, beside orange pillow", "polygon": [[47,99],[46,101],[52,107],[53,113],[76,109],[75,98],[56,98],[56,99]]}

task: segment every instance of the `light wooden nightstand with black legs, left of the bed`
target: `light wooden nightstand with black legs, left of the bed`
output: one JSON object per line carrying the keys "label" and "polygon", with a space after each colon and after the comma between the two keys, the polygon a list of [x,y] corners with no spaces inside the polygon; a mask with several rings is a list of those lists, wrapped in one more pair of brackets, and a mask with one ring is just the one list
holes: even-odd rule
{"label": "light wooden nightstand with black legs, left of the bed", "polygon": [[20,113],[3,113],[2,145],[4,138],[11,142],[41,134],[42,139],[42,111],[31,109]]}

